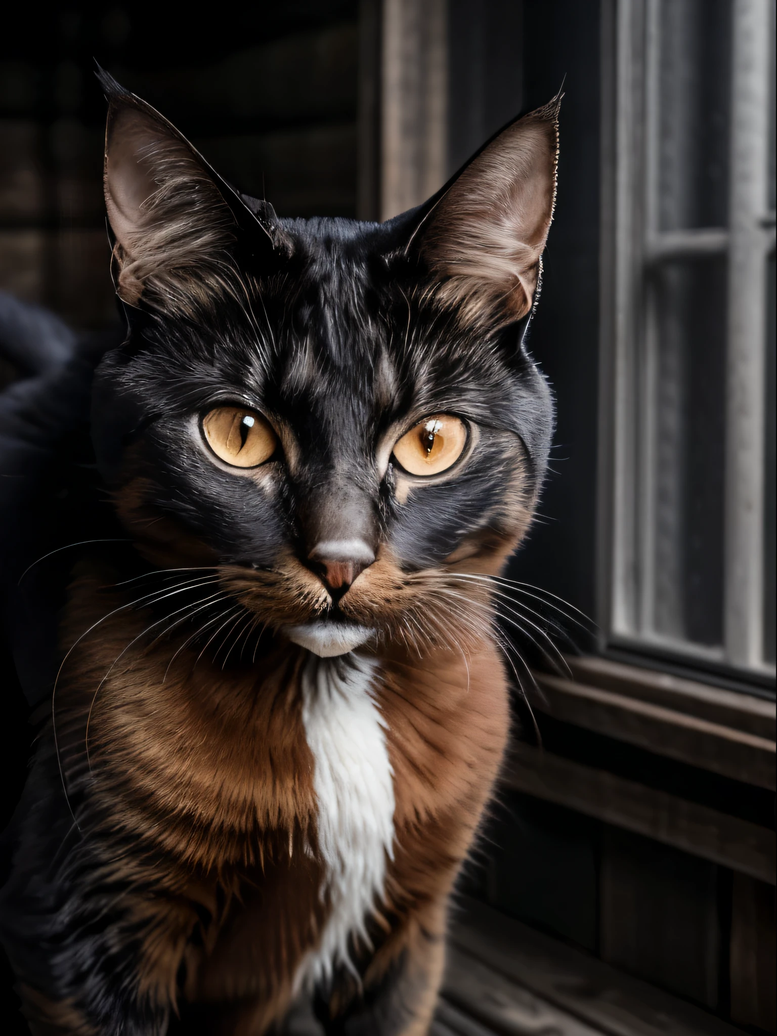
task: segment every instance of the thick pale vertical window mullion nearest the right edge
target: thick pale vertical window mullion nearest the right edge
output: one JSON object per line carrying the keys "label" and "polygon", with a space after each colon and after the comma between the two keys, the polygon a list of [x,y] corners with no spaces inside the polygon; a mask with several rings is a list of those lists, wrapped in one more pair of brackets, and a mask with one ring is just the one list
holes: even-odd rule
{"label": "thick pale vertical window mullion nearest the right edge", "polygon": [[762,645],[762,222],[767,192],[769,0],[735,0],[725,469],[725,651],[759,666]]}

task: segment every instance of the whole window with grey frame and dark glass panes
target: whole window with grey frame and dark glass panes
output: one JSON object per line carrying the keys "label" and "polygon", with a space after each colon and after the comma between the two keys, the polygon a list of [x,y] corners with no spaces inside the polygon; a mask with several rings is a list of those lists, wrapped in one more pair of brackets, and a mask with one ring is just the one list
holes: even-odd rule
{"label": "whole window with grey frame and dark glass panes", "polygon": [[774,0],[622,0],[605,626],[775,662]]}

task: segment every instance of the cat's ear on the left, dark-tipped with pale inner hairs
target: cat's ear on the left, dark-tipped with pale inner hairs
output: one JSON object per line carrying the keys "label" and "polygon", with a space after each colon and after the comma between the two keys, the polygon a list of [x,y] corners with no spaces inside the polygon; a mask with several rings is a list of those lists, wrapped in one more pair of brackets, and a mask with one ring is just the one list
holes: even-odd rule
{"label": "cat's ear on the left, dark-tipped with pale inner hairs", "polygon": [[240,231],[264,238],[252,213],[178,131],[106,73],[105,196],[115,236],[116,291],[131,306],[193,315],[235,290]]}

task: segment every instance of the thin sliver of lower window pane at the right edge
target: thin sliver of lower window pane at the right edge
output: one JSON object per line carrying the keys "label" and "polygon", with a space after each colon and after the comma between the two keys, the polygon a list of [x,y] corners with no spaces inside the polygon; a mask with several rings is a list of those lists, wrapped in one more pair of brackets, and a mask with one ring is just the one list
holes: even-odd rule
{"label": "thin sliver of lower window pane at the right edge", "polygon": [[764,451],[764,659],[775,661],[775,598],[777,598],[777,578],[775,573],[775,540],[777,540],[777,524],[775,523],[775,382],[777,382],[777,364],[775,364],[775,269],[774,255],[767,263],[767,422],[766,450]]}

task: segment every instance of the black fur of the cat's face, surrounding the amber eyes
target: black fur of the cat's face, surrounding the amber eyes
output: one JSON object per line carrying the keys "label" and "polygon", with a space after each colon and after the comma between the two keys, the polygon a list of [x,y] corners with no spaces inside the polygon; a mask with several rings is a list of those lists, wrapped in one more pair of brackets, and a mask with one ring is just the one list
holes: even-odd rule
{"label": "black fur of the cat's face, surrounding the amber eyes", "polygon": [[[114,107],[147,117],[106,83]],[[126,478],[126,448],[141,440],[153,506],[220,562],[258,568],[284,550],[305,563],[321,540],[358,539],[373,551],[387,546],[412,571],[473,534],[507,535],[510,487],[520,474],[530,506],[542,481],[551,401],[524,347],[530,309],[514,319],[507,307],[485,307],[463,321],[435,293],[445,279],[430,260],[428,225],[456,182],[382,225],[280,220],[211,182],[237,212],[227,289],[208,284],[189,312],[144,295],[125,306],[127,340],[103,362],[94,392],[109,484]],[[204,447],[199,420],[222,403],[259,410],[278,432],[282,445],[260,479],[214,462]],[[388,439],[437,412],[467,426],[462,458],[436,478],[403,474]]]}

